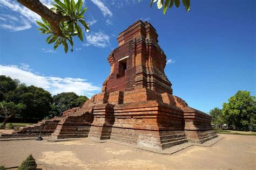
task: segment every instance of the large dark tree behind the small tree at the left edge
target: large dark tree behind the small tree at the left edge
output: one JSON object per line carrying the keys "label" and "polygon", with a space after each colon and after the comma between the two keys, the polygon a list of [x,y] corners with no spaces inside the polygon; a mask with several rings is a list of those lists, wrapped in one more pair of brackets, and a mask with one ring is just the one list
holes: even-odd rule
{"label": "large dark tree behind the small tree at the left edge", "polygon": [[6,94],[6,101],[11,101],[16,104],[23,103],[26,105],[26,108],[19,114],[23,119],[42,119],[49,115],[52,97],[49,91],[46,91],[43,88],[35,86],[26,87],[22,85]]}

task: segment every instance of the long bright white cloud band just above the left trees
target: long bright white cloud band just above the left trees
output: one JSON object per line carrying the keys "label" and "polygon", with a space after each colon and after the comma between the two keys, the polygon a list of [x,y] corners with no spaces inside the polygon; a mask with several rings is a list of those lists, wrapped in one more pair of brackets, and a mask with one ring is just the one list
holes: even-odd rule
{"label": "long bright white cloud band just above the left trees", "polygon": [[43,74],[38,75],[38,73],[33,73],[31,70],[29,65],[25,63],[22,63],[20,67],[16,65],[0,65],[0,75],[10,76],[12,79],[19,79],[27,86],[42,87],[50,91],[52,95],[62,92],[75,92],[78,95],[91,97],[100,91],[100,87],[93,86],[86,79],[44,76]]}

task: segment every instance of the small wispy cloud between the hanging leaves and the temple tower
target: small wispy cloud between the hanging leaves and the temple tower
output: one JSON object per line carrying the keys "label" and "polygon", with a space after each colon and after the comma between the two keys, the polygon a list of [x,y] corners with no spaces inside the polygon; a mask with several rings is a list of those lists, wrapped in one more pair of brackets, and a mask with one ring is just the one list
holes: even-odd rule
{"label": "small wispy cloud between the hanging leaves and the temple tower", "polygon": [[87,34],[86,43],[83,46],[95,46],[95,47],[107,47],[110,44],[110,37],[104,34],[103,32],[95,32]]}

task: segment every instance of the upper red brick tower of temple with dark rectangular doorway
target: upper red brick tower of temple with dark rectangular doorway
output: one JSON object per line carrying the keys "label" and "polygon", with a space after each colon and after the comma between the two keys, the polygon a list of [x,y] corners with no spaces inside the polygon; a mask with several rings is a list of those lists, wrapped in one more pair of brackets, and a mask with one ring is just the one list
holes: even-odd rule
{"label": "upper red brick tower of temple with dark rectangular doorway", "polygon": [[107,58],[111,71],[103,91],[147,88],[172,94],[172,84],[164,73],[166,55],[157,38],[154,27],[141,20],[121,32],[117,38],[119,46]]}

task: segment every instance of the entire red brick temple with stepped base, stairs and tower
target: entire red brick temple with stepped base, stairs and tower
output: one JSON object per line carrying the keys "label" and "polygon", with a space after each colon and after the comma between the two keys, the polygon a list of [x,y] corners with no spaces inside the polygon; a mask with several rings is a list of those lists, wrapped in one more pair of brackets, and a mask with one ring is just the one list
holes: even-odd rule
{"label": "entire red brick temple with stepped base, stairs and tower", "polygon": [[[137,20],[117,41],[118,47],[107,58],[111,70],[102,93],[82,107],[63,112],[62,117],[40,122],[45,136],[111,140],[149,150],[164,150],[187,141],[204,143],[217,137],[211,116],[172,95],[172,83],[164,73],[166,55],[150,23]],[[11,136],[38,133],[39,124]],[[5,137],[10,135],[2,135]]]}

